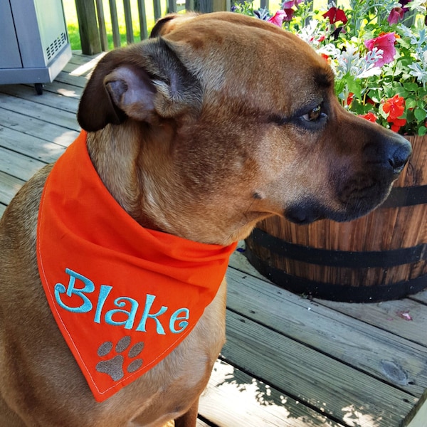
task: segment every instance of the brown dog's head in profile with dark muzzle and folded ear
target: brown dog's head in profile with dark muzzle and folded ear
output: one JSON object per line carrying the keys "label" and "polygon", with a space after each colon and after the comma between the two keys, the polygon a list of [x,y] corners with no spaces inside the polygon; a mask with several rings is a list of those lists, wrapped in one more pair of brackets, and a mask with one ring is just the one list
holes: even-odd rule
{"label": "brown dog's head in profile with dark muzzle and folded ear", "polygon": [[168,16],[149,41],[108,53],[78,120],[120,135],[116,144],[137,141],[142,216],[211,243],[242,238],[271,214],[300,223],[367,214],[411,152],[339,105],[332,70],[310,46],[226,12]]}

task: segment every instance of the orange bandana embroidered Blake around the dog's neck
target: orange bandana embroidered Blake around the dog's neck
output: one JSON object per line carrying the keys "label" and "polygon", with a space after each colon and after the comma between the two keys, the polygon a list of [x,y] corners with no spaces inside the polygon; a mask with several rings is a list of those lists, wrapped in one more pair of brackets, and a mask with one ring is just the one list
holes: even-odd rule
{"label": "orange bandana embroidered Blake around the dog's neck", "polygon": [[37,258],[53,316],[97,401],[191,332],[235,248],[139,226],[102,184],[81,132],[46,181]]}

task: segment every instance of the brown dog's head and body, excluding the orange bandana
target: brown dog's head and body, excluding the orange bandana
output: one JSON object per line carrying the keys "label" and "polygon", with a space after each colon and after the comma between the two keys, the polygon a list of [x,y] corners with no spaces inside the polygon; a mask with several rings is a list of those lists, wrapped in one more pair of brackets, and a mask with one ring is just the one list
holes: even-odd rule
{"label": "brown dog's head and body, excluding the orange bandana", "polygon": [[[153,36],[102,58],[78,111],[97,173],[139,224],[228,245],[266,216],[347,221],[389,194],[410,145],[344,111],[332,71],[297,37],[228,13],[167,17]],[[224,342],[225,281],[179,347],[95,402],[38,275],[50,171],[1,219],[1,426],[195,426]]]}

